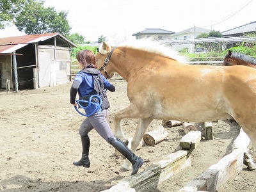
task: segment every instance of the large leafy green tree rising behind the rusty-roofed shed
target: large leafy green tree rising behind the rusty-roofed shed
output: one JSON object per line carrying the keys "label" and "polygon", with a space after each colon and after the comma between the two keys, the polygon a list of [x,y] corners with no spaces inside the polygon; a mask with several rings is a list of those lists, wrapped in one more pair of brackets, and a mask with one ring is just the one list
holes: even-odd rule
{"label": "large leafy green tree rising behind the rusty-roofed shed", "polygon": [[54,33],[68,35],[70,26],[67,12],[56,12],[44,7],[44,1],[27,0],[22,11],[15,17],[15,26],[26,34]]}

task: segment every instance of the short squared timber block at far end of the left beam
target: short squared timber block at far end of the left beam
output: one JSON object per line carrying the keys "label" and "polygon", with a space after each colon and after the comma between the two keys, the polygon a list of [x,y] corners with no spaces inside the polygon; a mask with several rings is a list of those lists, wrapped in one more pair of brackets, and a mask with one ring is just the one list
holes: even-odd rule
{"label": "short squared timber block at far end of the left beam", "polygon": [[190,131],[188,134],[184,135],[180,140],[180,147],[190,149],[196,148],[198,143],[201,141],[202,132],[201,131]]}

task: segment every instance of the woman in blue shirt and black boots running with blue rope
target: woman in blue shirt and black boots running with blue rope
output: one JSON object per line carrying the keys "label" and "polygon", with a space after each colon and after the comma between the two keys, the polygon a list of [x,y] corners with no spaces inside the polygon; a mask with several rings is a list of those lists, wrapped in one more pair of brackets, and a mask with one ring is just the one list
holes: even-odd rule
{"label": "woman in blue shirt and black boots running with blue rope", "polygon": [[[141,159],[141,157],[135,156],[135,154],[133,154],[121,140],[115,137],[106,119],[108,115],[108,108],[110,106],[104,89],[107,89],[110,92],[115,92],[115,86],[109,83],[109,81],[104,76],[102,76],[102,74],[100,74],[99,70],[97,70],[95,56],[92,51],[79,51],[77,52],[76,58],[79,62],[79,65],[83,66],[83,69],[76,74],[74,82],[70,88],[70,103],[74,106],[77,106],[77,92],[79,94],[79,100],[88,100],[91,95],[99,95],[99,97],[102,99],[102,111],[96,111],[96,113],[88,116],[81,124],[79,134],[81,136],[83,152],[81,159],[79,161],[75,161],[73,164],[76,166],[83,165],[86,168],[90,167],[90,159],[88,157],[90,138],[88,133],[94,128],[100,134],[100,136],[104,138],[104,140],[115,147],[116,150],[118,150],[131,162],[131,175],[136,174],[140,166],[142,166],[144,163],[143,159]],[[86,108],[86,114],[93,113],[97,106],[99,106],[99,103],[97,103],[99,100],[97,100],[95,97],[93,98],[96,104],[92,104],[90,107]]]}

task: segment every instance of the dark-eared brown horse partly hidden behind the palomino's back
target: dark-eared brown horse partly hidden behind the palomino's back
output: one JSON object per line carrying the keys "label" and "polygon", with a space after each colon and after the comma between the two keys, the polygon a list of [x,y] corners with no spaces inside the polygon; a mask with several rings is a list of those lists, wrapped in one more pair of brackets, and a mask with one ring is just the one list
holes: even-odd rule
{"label": "dark-eared brown horse partly hidden behind the palomino's back", "polygon": [[242,54],[240,52],[231,52],[228,51],[227,55],[223,60],[223,65],[231,66],[231,65],[245,65],[248,67],[256,68],[256,59],[246,54]]}

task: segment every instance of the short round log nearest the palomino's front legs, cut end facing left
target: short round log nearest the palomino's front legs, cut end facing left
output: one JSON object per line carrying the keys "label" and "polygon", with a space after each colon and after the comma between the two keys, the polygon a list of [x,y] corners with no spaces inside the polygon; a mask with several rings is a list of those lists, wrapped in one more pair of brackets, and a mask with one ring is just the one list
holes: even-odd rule
{"label": "short round log nearest the palomino's front legs, cut end facing left", "polygon": [[163,126],[159,126],[155,131],[146,132],[143,140],[147,145],[154,146],[156,143],[163,141],[166,136],[168,136],[168,132],[164,130]]}

